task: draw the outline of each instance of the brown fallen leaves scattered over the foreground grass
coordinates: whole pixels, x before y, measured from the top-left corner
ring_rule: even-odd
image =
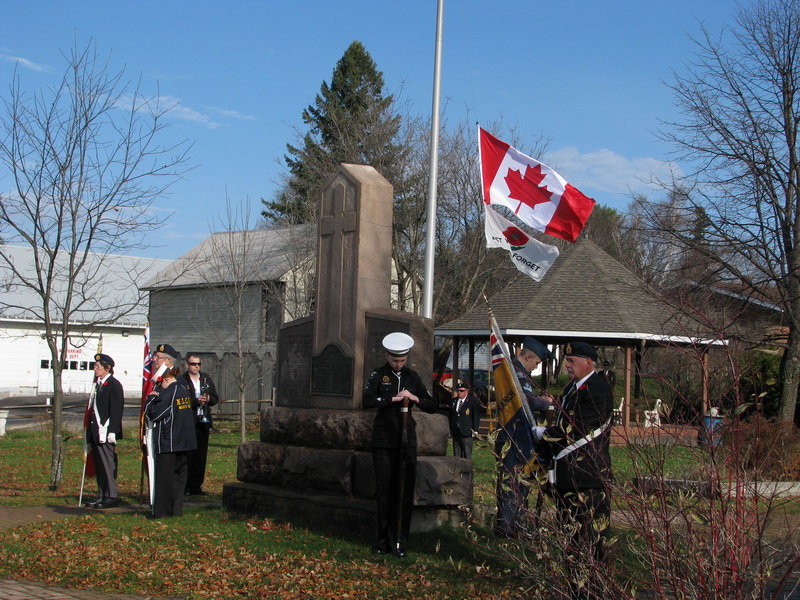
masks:
[[[244,532],[245,539],[257,536],[252,547],[219,531],[181,529],[179,520],[170,525],[137,522],[124,531],[113,524],[114,519],[108,517],[84,516],[0,532],[0,576],[225,600],[460,597],[450,595],[447,578],[422,561],[373,561],[366,548],[363,554],[360,548],[356,550],[358,556],[352,556],[352,548],[323,548],[312,554],[285,546],[279,552],[265,550],[269,536],[277,539],[292,532],[290,524],[270,519],[229,523],[240,535]],[[481,574],[484,581],[486,576],[486,572]],[[487,589],[494,593],[472,588],[470,597],[504,597],[497,593],[502,582],[491,582]]]

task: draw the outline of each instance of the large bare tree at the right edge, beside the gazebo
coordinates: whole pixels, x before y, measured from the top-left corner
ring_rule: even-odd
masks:
[[[797,0],[759,0],[719,38],[704,30],[696,60],[671,86],[683,119],[662,132],[691,168],[678,185],[686,218],[704,214],[704,232],[699,240],[696,231],[662,230],[783,308],[785,421],[800,382],[799,24]]]

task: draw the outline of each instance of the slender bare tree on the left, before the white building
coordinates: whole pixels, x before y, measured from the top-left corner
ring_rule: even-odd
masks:
[[[134,309],[98,294],[103,257],[145,247],[158,226],[149,209],[186,170],[188,149],[159,145],[168,108],[131,90],[123,72],[110,72],[93,42],[65,58],[60,83],[32,96],[15,75],[0,137],[13,186],[1,198],[0,235],[29,247],[34,268],[21,269],[2,247],[0,265],[7,285],[38,298],[15,308],[43,323],[53,369],[51,489],[61,480],[61,357],[71,322],[91,330]]]

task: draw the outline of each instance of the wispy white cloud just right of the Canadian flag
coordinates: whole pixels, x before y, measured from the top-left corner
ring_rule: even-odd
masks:
[[[657,189],[652,181],[680,174],[677,164],[658,158],[628,158],[603,148],[581,153],[575,147],[547,153],[545,163],[578,189],[591,188],[614,194]]]

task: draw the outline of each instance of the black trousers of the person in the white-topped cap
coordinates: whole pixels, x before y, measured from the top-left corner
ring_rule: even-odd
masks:
[[[404,458],[404,460],[402,460]],[[378,508],[378,540],[390,547],[399,541],[408,542],[411,512],[414,507],[414,485],[417,480],[417,451],[407,448],[404,456],[399,449],[374,448],[375,500]],[[402,503],[401,503],[402,482]],[[397,539],[398,521],[400,539]]]

